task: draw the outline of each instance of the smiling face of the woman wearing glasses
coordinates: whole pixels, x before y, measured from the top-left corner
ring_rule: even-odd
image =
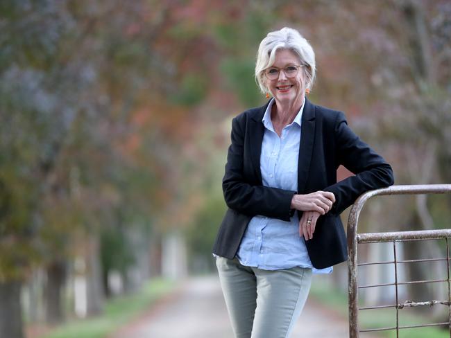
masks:
[[[287,66],[299,66],[299,57],[289,49],[281,49],[275,53],[275,61],[272,65],[278,69],[285,69]],[[271,67],[269,67],[271,69]],[[302,67],[298,67],[298,72],[293,78],[288,78],[284,71],[279,71],[279,77],[275,80],[266,78],[266,87],[276,101],[280,103],[295,103],[296,100],[303,100],[305,92],[305,78]],[[300,102],[302,104],[302,101]]]

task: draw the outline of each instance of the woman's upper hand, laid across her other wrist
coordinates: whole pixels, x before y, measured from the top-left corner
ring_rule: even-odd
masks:
[[[300,211],[318,211],[321,215],[329,212],[335,202],[335,195],[330,191],[316,191],[306,195],[293,195],[291,208]]]

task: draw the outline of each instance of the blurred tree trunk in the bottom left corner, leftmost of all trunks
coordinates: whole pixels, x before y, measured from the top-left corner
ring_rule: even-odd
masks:
[[[0,282],[0,338],[24,338],[19,281]]]

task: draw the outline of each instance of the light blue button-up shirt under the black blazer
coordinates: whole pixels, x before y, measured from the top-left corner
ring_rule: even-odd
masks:
[[[260,154],[263,185],[297,191],[300,125],[305,100],[296,118],[284,127],[280,137],[271,121],[273,104],[274,99],[262,120],[265,127]],[[312,267],[304,238],[299,236],[298,213],[294,213],[289,222],[254,216],[241,240],[237,258],[242,265],[265,270]],[[314,269],[314,272],[330,273],[332,267]]]

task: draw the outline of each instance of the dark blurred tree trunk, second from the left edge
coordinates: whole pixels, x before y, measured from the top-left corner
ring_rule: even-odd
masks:
[[[60,260],[53,261],[47,267],[46,272],[46,321],[49,324],[61,323],[65,317],[62,307],[62,290],[66,281],[65,262]]]

